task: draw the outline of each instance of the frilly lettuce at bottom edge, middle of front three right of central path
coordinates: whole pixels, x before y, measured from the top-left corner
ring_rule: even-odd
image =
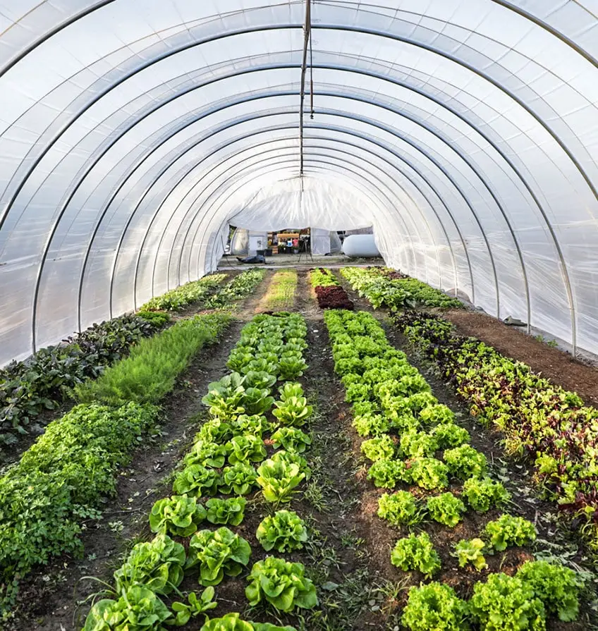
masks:
[[[476,583],[470,612],[483,631],[544,631],[546,611],[534,590],[517,577],[491,574]]]

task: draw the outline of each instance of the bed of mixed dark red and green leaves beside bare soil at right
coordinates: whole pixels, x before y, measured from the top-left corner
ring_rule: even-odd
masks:
[[[439,364],[472,416],[504,434],[507,453],[532,460],[539,491],[562,513],[580,518],[590,544],[598,546],[598,410],[526,364],[456,335],[441,317],[408,313],[396,323]]]

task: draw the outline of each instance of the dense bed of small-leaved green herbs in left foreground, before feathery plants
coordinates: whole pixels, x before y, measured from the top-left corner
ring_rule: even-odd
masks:
[[[135,403],[78,405],[0,477],[0,570],[8,599],[16,575],[51,556],[80,551],[80,522],[99,516],[99,499],[116,493],[117,467],[157,418],[157,408]],[[0,601],[0,616],[3,607]]]

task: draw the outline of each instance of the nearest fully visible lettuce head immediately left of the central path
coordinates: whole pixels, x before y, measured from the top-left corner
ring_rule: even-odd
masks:
[[[245,596],[252,607],[266,600],[279,611],[312,609],[318,604],[316,588],[304,572],[301,563],[268,556],[253,565]]]

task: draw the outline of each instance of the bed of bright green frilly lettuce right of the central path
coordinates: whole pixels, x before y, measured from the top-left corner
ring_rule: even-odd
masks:
[[[474,572],[468,579],[473,587],[470,601],[442,583],[414,586],[403,611],[403,626],[418,631],[544,629],[550,617],[559,615],[554,606],[547,607],[551,596],[540,593],[538,582],[532,584],[532,570],[506,585],[511,577],[503,580],[506,575],[499,571],[505,557],[497,558],[512,546],[529,548],[536,538],[533,523],[500,513],[508,493],[492,478],[486,458],[469,444],[468,432],[458,431],[451,410],[432,396],[425,379],[404,353],[389,344],[371,314],[329,311],[324,320],[336,372],[353,406],[355,428],[367,438],[362,442],[367,477],[374,486],[388,489],[379,495],[378,515],[403,532],[420,531],[396,540],[391,563],[417,577],[447,577],[452,583],[452,572],[445,572],[434,539],[425,532],[427,525],[434,522],[436,527],[456,529],[470,510],[484,515],[491,511],[495,516],[484,520],[485,527],[477,527],[476,537],[456,541],[451,551],[464,572]],[[527,552],[523,559],[530,557]],[[515,570],[521,566],[521,561],[513,563]],[[552,569],[539,571],[566,577],[563,582],[573,594],[568,611],[575,612],[568,620],[573,620],[580,576],[559,563],[550,565]],[[525,617],[518,604],[523,601],[532,604],[533,616]]]

